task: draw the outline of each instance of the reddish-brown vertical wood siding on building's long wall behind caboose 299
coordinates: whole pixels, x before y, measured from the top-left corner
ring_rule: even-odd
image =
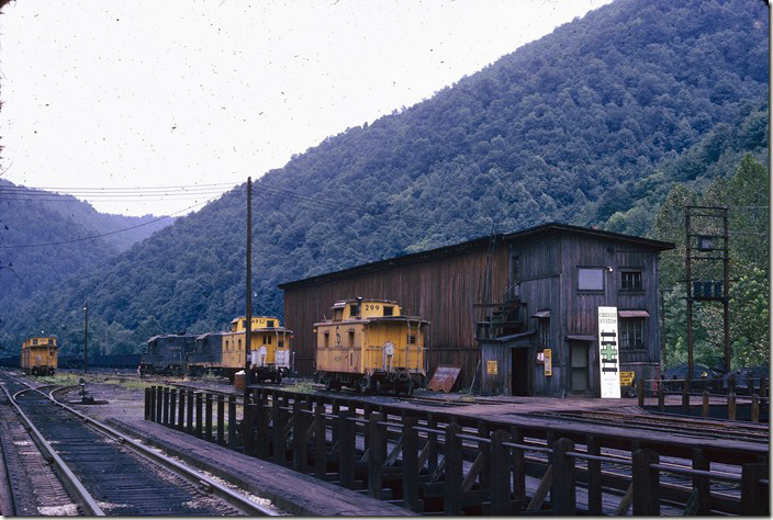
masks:
[[[436,260],[394,265],[350,278],[323,281],[284,292],[284,319],[295,332],[295,368],[301,374],[312,374],[314,336],[312,327],[338,299],[356,296],[394,299],[403,314],[421,316],[430,321],[426,351],[427,375],[438,364],[462,366],[461,386],[472,383],[480,359],[474,340],[475,309],[486,269],[488,250]],[[498,245],[494,251],[492,291],[500,298],[508,283],[508,248]]]

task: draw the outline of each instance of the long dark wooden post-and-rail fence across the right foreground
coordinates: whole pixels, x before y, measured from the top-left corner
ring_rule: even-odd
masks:
[[[632,508],[654,516],[668,502],[687,513],[769,513],[766,445],[597,425],[567,429],[523,417],[501,422],[280,389],[253,388],[246,406],[237,397],[152,387],[145,418],[417,512],[625,515]],[[714,471],[712,463],[738,471]],[[737,493],[712,489],[717,483]],[[579,486],[586,490],[580,508]],[[619,498],[614,510],[610,495]]]

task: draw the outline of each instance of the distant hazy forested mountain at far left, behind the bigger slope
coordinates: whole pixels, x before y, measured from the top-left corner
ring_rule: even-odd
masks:
[[[171,218],[97,212],[70,195],[29,190],[0,179],[0,330],[27,298],[169,225]],[[137,226],[137,227],[134,227]],[[121,233],[114,233],[134,227]],[[103,235],[83,240],[86,237]],[[26,247],[51,244],[45,247]]]

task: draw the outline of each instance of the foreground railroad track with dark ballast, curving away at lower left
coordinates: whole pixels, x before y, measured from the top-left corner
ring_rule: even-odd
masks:
[[[65,513],[86,516],[281,513],[58,403],[55,394],[67,388],[44,392],[8,374],[0,382],[5,402],[31,431],[42,456],[56,467],[71,497],[61,505],[63,486],[41,489],[41,501],[51,499],[51,507],[58,504]],[[33,515],[55,513],[37,509]]]

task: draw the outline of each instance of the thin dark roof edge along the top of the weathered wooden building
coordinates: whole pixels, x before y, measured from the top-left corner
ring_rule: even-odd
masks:
[[[651,248],[656,251],[665,251],[673,249],[675,246],[671,242],[663,242],[660,240],[652,240],[649,238],[635,237],[631,235],[623,235],[620,233],[603,231],[601,229],[592,229],[589,227],[572,226],[569,224],[558,224],[550,223],[544,224],[541,226],[530,227],[528,229],[522,229],[519,231],[507,233],[507,234],[496,234],[495,240],[500,242],[511,242],[520,239],[528,239],[531,237],[549,236],[554,234],[572,234],[572,235],[585,235],[589,237],[595,237],[598,239],[612,239],[626,244],[635,244],[638,246],[643,246]],[[463,255],[466,252],[485,250],[491,241],[491,236],[473,238],[472,240],[467,240],[459,244],[453,244],[451,246],[445,246],[436,249],[428,249],[426,251],[414,252],[411,255],[404,255],[400,257],[388,258],[384,260],[379,260],[376,262],[363,263],[360,265],[355,265],[352,268],[343,269],[340,271],[334,271],[325,274],[317,274],[315,276],[309,276],[302,280],[295,280],[291,282],[284,282],[279,284],[279,289],[296,289],[305,285],[315,285],[317,283],[332,282],[335,280],[341,280],[349,276],[356,276],[358,274],[365,274],[376,271],[382,271],[384,269],[390,269],[397,265],[408,265],[412,263],[426,262],[432,260],[437,260],[440,258],[455,257],[458,255]]]

